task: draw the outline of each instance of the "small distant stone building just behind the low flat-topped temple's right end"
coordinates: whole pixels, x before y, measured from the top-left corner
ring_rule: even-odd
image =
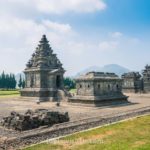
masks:
[[[122,75],[122,90],[125,93],[138,93],[143,91],[143,84],[139,72],[129,72]]]

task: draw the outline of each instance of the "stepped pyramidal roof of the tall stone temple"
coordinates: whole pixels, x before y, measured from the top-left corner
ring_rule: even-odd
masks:
[[[35,52],[32,54],[31,59],[26,65],[26,69],[33,68],[63,69],[62,64],[57,58],[56,54],[53,54],[53,50],[50,47],[46,35],[42,36]]]

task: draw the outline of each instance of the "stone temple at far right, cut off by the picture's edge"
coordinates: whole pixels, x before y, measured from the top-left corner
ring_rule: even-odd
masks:
[[[150,92],[150,66],[146,65],[145,69],[143,70],[143,86],[144,86],[144,92],[149,93]]]

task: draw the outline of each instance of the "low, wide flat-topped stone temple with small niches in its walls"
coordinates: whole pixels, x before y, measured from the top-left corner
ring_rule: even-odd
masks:
[[[126,101],[122,94],[122,79],[114,73],[89,72],[76,79],[76,95],[70,102],[99,103]]]

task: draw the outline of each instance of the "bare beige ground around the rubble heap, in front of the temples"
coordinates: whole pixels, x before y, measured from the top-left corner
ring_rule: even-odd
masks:
[[[27,109],[46,108],[54,111],[69,112],[70,121],[79,121],[92,117],[103,117],[106,115],[115,115],[122,112],[132,111],[142,107],[150,106],[150,94],[130,94],[129,102],[126,104],[111,105],[107,107],[85,107],[81,105],[72,105],[66,102],[61,103],[60,107],[56,107],[54,102],[36,104],[34,101],[27,101],[22,98],[0,98],[0,120],[2,117],[9,115],[11,111],[24,112]],[[61,125],[55,125],[51,129],[60,127]],[[62,125],[63,127],[63,125]],[[38,133],[41,130],[47,130],[47,127],[35,129],[32,131],[16,132],[0,127],[0,144],[6,139],[12,139],[14,137],[22,137],[29,133]]]

